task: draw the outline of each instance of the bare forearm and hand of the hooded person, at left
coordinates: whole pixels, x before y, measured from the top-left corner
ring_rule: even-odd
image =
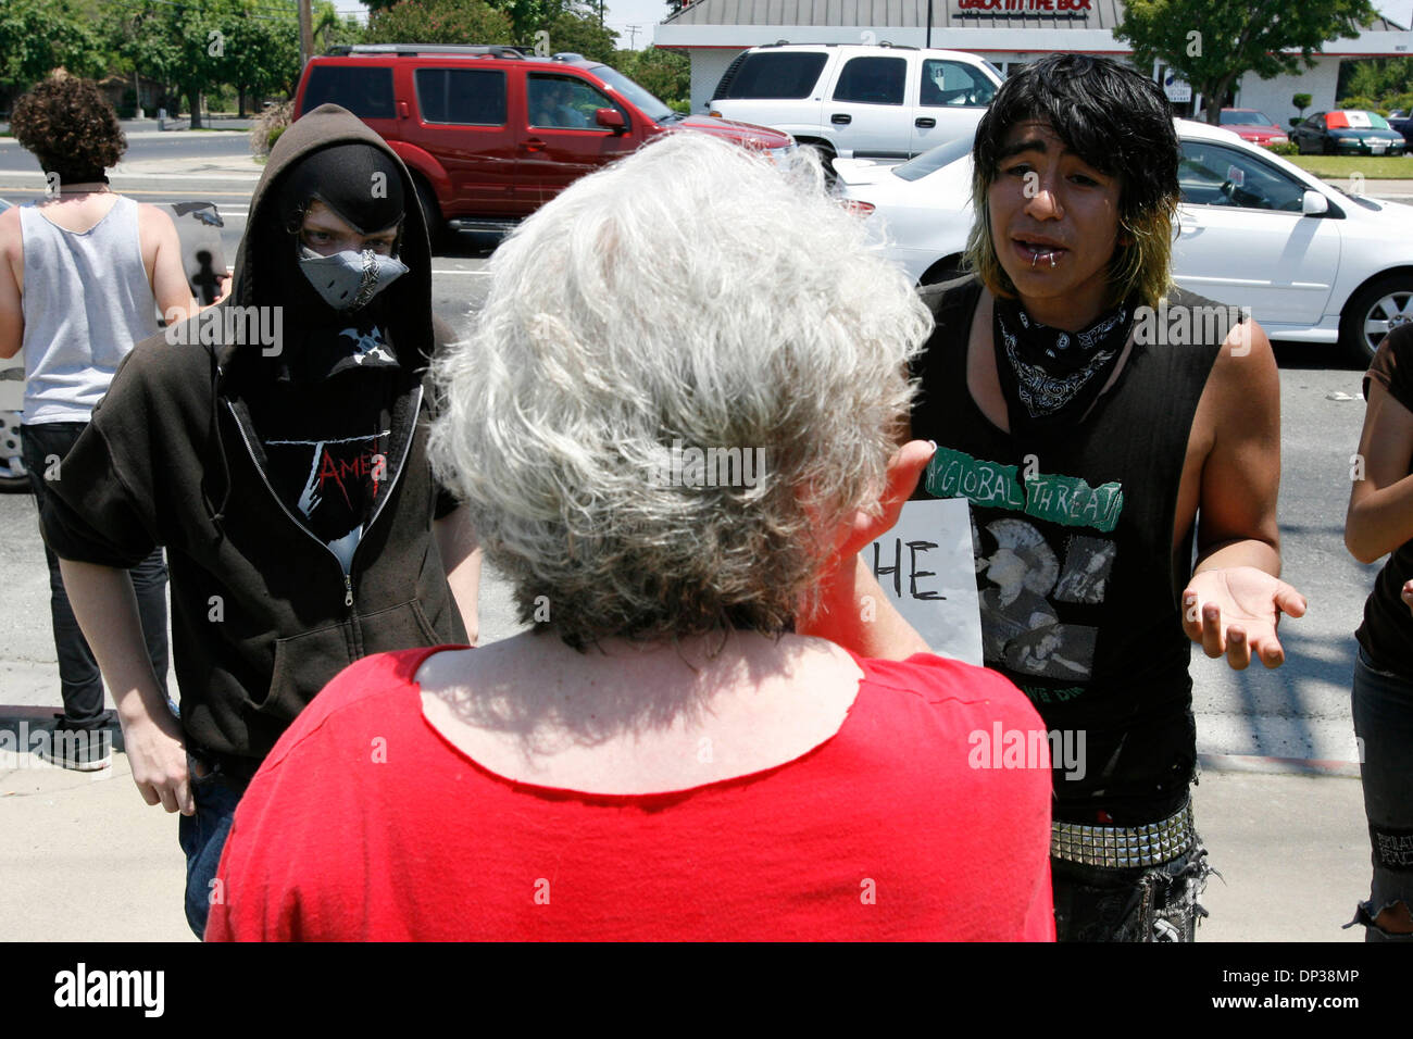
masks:
[[[195,813],[181,724],[167,707],[143,640],[126,570],[59,558],[64,588],[117,704],[133,782],[148,804]]]

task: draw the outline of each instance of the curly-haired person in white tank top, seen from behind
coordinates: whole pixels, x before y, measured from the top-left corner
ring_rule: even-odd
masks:
[[[42,513],[47,481],[119,362],[160,329],[155,308],[184,321],[195,310],[171,218],[107,187],[127,143],[93,83],[57,72],[14,106],[11,133],[40,161],[48,195],[0,213],[0,359],[24,349],[20,427],[25,468]],[[100,130],[95,131],[95,126]],[[45,548],[64,712],[41,756],[96,770],[112,761],[103,681],[79,630],[58,560]],[[158,548],[130,571],[148,656],[167,674],[167,568]]]

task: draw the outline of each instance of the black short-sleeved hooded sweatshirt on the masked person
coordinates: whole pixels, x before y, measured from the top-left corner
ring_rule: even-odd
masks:
[[[382,150],[401,175],[398,257],[410,270],[369,304],[397,369],[339,383],[373,387],[389,430],[387,481],[345,571],[274,489],[252,414],[297,397],[290,368],[311,327],[332,318],[298,274],[288,215],[277,212],[281,178],[305,155],[349,143]],[[324,105],[292,123],[250,201],[230,298],[129,353],[51,481],[42,527],[59,557],[126,568],[165,546],[182,729],[235,777],[253,775],[353,660],[466,639],[431,534],[455,502],[425,455],[431,253],[415,198],[403,163],[345,109]],[[237,305],[284,308],[277,356],[266,356],[250,324],[226,319]]]

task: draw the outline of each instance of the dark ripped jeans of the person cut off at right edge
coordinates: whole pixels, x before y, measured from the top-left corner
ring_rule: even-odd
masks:
[[[1378,670],[1361,646],[1352,701],[1373,884],[1345,926],[1362,923],[1366,941],[1413,941],[1413,934],[1390,934],[1373,923],[1396,902],[1413,908],[1413,684]]]

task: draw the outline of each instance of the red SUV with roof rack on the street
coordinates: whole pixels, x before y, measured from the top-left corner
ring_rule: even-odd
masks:
[[[578,54],[513,47],[370,44],[309,59],[294,112],[342,105],[376,130],[417,181],[437,233],[507,230],[571,181],[660,133],[697,130],[763,151],[784,133],[680,116],[620,72]]]

